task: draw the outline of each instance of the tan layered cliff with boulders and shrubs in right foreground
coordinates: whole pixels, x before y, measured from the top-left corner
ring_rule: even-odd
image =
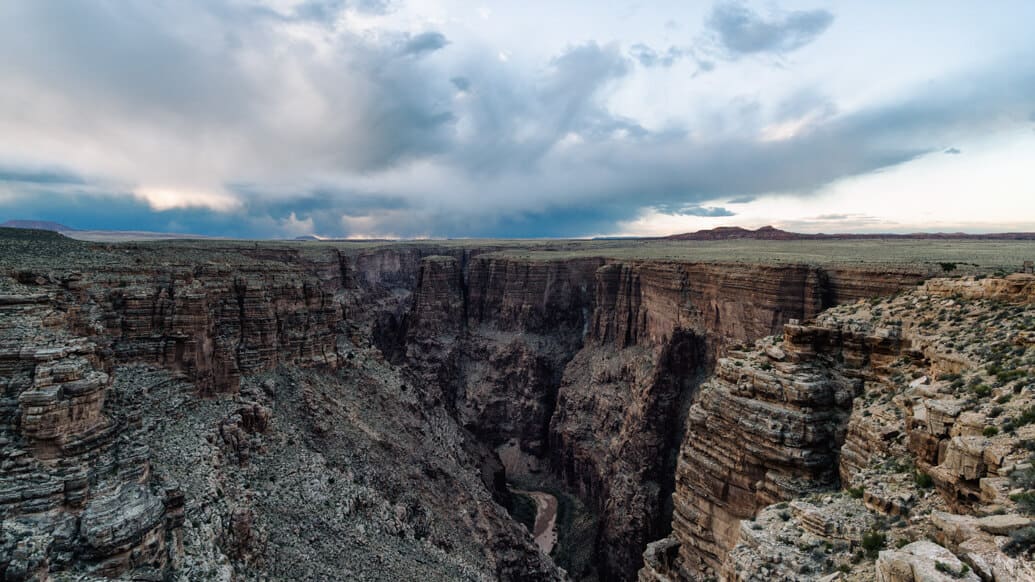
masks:
[[[1035,576],[1018,515],[1033,285],[934,280],[731,352],[689,413],[673,532],[640,579]]]

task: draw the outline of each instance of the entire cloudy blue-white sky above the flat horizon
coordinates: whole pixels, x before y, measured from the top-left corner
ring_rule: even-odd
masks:
[[[1029,0],[0,2],[0,221],[1035,231]]]

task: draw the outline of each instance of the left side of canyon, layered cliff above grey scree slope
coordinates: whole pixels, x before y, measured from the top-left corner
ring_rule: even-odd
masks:
[[[0,281],[5,580],[562,577],[374,345],[434,248],[56,244]]]

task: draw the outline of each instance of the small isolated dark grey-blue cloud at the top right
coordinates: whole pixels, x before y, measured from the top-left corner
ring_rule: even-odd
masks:
[[[827,10],[795,10],[768,18],[740,2],[719,2],[707,26],[729,58],[759,53],[790,53],[808,45],[834,21]]]

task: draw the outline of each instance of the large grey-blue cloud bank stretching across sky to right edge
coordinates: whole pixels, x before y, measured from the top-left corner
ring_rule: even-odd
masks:
[[[722,2],[685,45],[578,39],[529,65],[401,10],[0,4],[0,213],[256,237],[603,234],[950,151],[1028,122],[1035,94],[1024,65],[847,111],[811,89],[649,124],[613,101],[640,67],[807,51],[834,14]]]

